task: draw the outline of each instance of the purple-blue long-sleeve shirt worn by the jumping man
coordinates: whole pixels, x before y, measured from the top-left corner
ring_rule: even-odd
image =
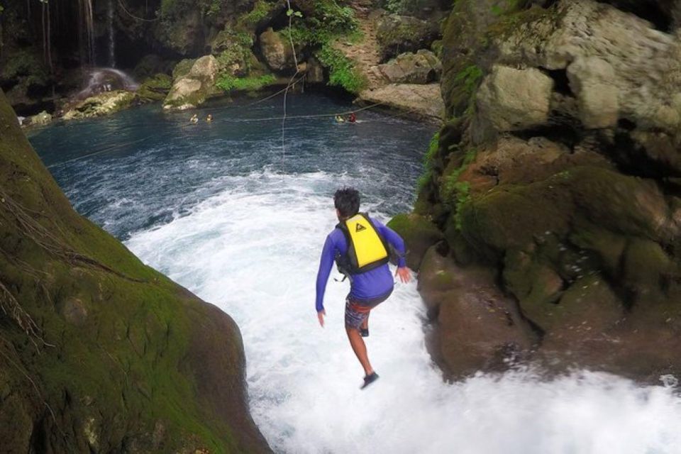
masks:
[[[384,226],[379,221],[371,219],[372,224],[377,231],[390,243],[399,254],[399,261],[397,266],[404,267],[404,240],[391,228]],[[331,274],[336,253],[345,255],[348,253],[348,240],[339,228],[335,228],[333,232],[329,233],[324,243],[324,248],[321,252],[321,260],[319,262],[319,272],[317,272],[317,311],[324,309],[324,292],[326,292],[326,282],[328,282],[328,275]],[[362,272],[359,275],[353,275],[352,283],[350,284],[350,297],[362,301],[382,297],[392,290],[393,280],[392,274],[385,264],[373,270]]]

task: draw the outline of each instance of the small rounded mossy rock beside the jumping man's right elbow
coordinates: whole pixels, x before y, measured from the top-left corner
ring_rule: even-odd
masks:
[[[419,270],[426,250],[443,239],[436,225],[418,214],[398,214],[387,226],[404,239],[407,249],[406,265],[415,271]]]

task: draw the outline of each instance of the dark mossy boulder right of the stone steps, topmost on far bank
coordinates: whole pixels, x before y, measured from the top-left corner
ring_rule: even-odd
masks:
[[[428,49],[439,34],[437,21],[423,21],[413,16],[389,14],[376,21],[376,40],[382,61],[403,52]]]

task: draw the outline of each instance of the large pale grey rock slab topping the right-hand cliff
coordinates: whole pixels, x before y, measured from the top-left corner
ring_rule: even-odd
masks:
[[[650,165],[681,172],[661,143],[679,143],[681,41],[631,13],[592,0],[561,1],[515,30],[502,28],[495,52],[506,65],[565,74],[585,128],[619,122]],[[661,140],[648,140],[650,134]],[[639,151],[640,150],[640,151]],[[623,154],[624,154],[623,153]],[[670,165],[671,164],[671,165]]]

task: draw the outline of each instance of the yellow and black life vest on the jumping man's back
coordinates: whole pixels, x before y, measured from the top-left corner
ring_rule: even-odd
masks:
[[[341,272],[358,275],[373,270],[389,261],[389,247],[364,213],[341,221],[336,226],[348,240],[348,253],[336,258]]]

